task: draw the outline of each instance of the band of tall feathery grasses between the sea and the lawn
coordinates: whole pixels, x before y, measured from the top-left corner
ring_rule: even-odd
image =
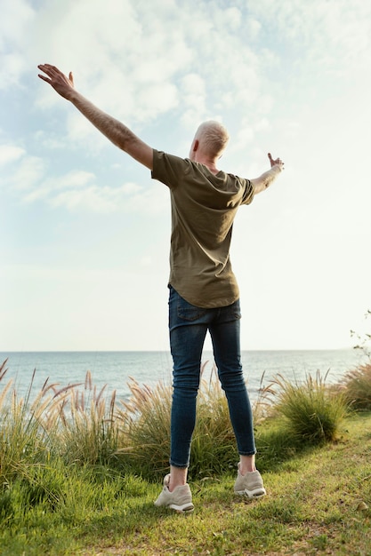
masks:
[[[259,465],[269,469],[300,445],[334,441],[352,407],[363,406],[360,394],[371,391],[371,366],[363,366],[335,391],[327,375],[307,377],[303,384],[278,375],[261,389],[254,404]],[[203,369],[205,370],[205,369]],[[35,375],[34,375],[35,376]],[[355,391],[354,385],[359,390]],[[6,361],[0,366],[0,481],[23,477],[34,484],[34,473],[55,466],[107,466],[157,481],[168,469],[172,388],[129,382],[130,398],[97,391],[90,372],[85,383],[60,386],[46,381],[25,398],[6,383]],[[33,394],[33,393],[32,393]],[[365,397],[365,396],[364,396]],[[191,445],[190,473],[203,477],[235,469],[236,441],[228,403],[215,369],[201,377],[197,425]],[[54,473],[55,475],[55,473]]]

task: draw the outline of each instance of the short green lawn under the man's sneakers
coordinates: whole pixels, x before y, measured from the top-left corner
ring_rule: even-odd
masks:
[[[265,473],[259,501],[234,496],[230,473],[190,477],[190,515],[155,508],[159,485],[133,474],[40,466],[3,490],[0,553],[370,554],[371,414],[345,425],[340,441]]]

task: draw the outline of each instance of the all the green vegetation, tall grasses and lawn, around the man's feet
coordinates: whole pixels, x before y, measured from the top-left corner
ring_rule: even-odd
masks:
[[[212,373],[198,400],[187,517],[153,506],[168,466],[170,388],[132,380],[130,400],[117,401],[87,373],[83,385],[47,381],[35,396],[31,383],[23,400],[5,366],[0,554],[371,553],[371,365],[337,388],[319,373],[262,388],[254,416],[268,496],[254,502],[232,494],[237,452]]]

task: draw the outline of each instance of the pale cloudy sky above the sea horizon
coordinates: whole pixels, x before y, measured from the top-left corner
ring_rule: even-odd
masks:
[[[214,119],[222,170],[282,158],[234,224],[241,346],[354,346],[371,331],[370,37],[365,0],[3,0],[0,351],[168,350],[168,190],[40,63],[158,150],[188,156]]]

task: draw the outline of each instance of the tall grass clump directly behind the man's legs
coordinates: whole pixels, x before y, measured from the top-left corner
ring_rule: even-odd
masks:
[[[202,370],[205,369],[204,368]],[[121,454],[139,465],[141,473],[164,473],[170,454],[172,387],[158,384],[153,390],[131,379],[132,396],[122,402]],[[190,448],[190,473],[220,473],[235,466],[236,441],[230,425],[228,403],[215,370],[210,380],[201,380],[196,427]]]

